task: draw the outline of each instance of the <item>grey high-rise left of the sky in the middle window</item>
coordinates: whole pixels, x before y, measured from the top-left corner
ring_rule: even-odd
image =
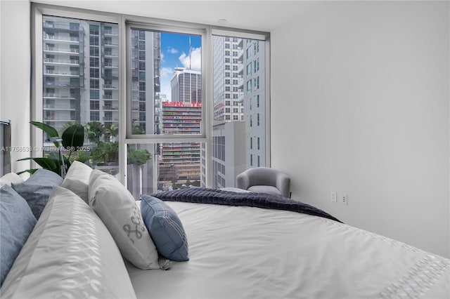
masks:
[[[131,29],[131,126],[134,134],[159,134],[161,131],[160,39],[160,32]],[[158,147],[129,144],[127,150],[147,150],[152,156],[143,166],[128,166],[129,190],[135,197],[155,192],[158,186],[153,178],[158,175]]]

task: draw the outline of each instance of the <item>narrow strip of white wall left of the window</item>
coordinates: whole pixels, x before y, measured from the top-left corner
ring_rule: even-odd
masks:
[[[30,168],[30,2],[0,1],[0,117],[11,119],[11,171]],[[18,113],[19,112],[19,113]],[[25,175],[26,176],[26,175]]]

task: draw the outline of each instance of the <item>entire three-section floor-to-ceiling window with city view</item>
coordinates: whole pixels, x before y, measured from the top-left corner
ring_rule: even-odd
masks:
[[[60,133],[82,124],[84,149],[72,159],[115,175],[136,198],[233,187],[241,171],[269,165],[264,34],[40,4],[34,12],[33,120]],[[51,146],[47,137],[35,145]]]

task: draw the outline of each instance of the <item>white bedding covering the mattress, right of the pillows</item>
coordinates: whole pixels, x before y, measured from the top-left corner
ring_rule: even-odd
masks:
[[[138,298],[449,298],[450,261],[333,220],[166,201],[187,262],[127,264]]]

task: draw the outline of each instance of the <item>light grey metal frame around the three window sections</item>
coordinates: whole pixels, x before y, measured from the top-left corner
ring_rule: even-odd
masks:
[[[51,15],[61,18],[74,18],[82,20],[92,20],[94,22],[109,22],[117,24],[119,34],[118,46],[118,98],[119,98],[119,173],[118,178],[122,184],[127,184],[127,145],[129,143],[153,144],[162,142],[203,142],[206,147],[205,167],[207,186],[212,185],[212,119],[214,117],[214,98],[212,86],[212,36],[224,35],[233,38],[259,39],[265,41],[265,124],[266,124],[266,165],[271,165],[270,148],[270,36],[267,32],[257,32],[248,29],[234,29],[218,27],[212,25],[202,25],[191,22],[179,22],[158,18],[147,18],[136,15],[126,15],[121,13],[106,13],[103,11],[93,11],[84,8],[71,8],[66,6],[54,6],[51,4],[39,4],[32,2],[31,13],[31,39],[32,39],[32,80],[31,80],[31,119],[41,120],[44,116],[43,89],[43,18],[44,15]],[[159,30],[162,32],[176,32],[185,34],[198,34],[202,36],[202,122],[200,134],[189,135],[133,135],[131,134],[131,93],[130,80],[131,69],[129,69],[129,46],[128,28],[131,26],[142,29]],[[130,89],[130,90],[129,90]],[[208,100],[209,99],[209,100]],[[90,99],[89,99],[90,100]],[[31,142],[34,147],[41,146],[43,132],[37,128],[31,128]],[[39,152],[32,152],[32,157],[39,157]],[[32,166],[36,166],[32,162]]]

